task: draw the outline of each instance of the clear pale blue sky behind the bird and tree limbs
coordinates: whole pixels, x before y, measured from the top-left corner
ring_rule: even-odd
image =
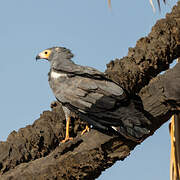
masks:
[[[161,0],[162,1],[162,0]],[[155,22],[170,12],[176,0],[154,14],[148,0],[6,0],[0,4],[0,140],[32,124],[55,100],[48,85],[49,64],[35,56],[52,46],[65,46],[77,64],[104,71],[106,64],[127,55]],[[168,123],[123,162],[98,180],[169,179]]]

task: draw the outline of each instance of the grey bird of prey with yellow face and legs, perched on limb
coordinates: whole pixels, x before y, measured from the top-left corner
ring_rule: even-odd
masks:
[[[49,85],[62,105],[66,118],[66,135],[61,143],[72,140],[69,135],[71,112],[87,123],[84,134],[93,127],[104,133],[139,142],[150,133],[150,120],[144,116],[138,98],[131,98],[119,84],[99,70],[75,64],[74,55],[65,47],[43,50],[36,60],[50,62]]]

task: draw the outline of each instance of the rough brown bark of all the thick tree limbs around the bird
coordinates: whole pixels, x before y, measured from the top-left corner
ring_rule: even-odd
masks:
[[[152,122],[151,134],[180,109],[180,63],[167,70],[180,56],[179,17],[180,3],[129,49],[128,56],[107,65],[108,77],[132,95],[139,93]],[[167,72],[157,76],[163,70]],[[70,129],[74,140],[59,145],[65,122],[61,106],[54,104],[33,125],[12,132],[0,143],[0,179],[95,179],[137,145],[96,130],[80,136],[82,128],[75,119]]]

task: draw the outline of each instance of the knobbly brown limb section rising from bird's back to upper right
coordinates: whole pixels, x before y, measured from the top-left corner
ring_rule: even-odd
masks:
[[[149,83],[180,56],[180,3],[171,14],[157,21],[147,37],[129,48],[128,56],[107,65],[108,77],[121,84],[130,93]]]

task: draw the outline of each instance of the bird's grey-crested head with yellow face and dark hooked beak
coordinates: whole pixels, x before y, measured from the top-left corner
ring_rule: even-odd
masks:
[[[52,47],[40,52],[36,56],[36,60],[47,59],[48,61],[52,62],[55,59],[58,59],[58,61],[60,61],[65,59],[71,59],[72,57],[73,54],[69,49],[66,49],[64,47]]]

